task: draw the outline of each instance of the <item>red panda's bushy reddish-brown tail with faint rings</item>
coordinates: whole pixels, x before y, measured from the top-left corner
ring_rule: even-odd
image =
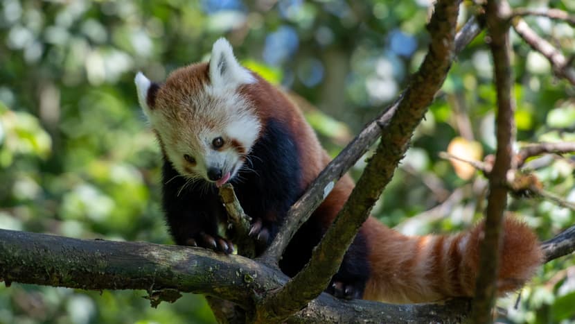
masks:
[[[371,244],[371,277],[364,298],[413,303],[472,296],[483,226],[479,223],[456,235],[407,237],[370,217],[362,228]],[[524,223],[506,217],[499,260],[499,293],[522,287],[541,262],[536,235]]]

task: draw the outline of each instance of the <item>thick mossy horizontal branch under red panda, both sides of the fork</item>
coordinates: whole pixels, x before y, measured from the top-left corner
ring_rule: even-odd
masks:
[[[89,290],[145,289],[204,293],[229,300],[250,314],[263,291],[288,278],[251,259],[204,248],[85,240],[0,230],[0,280]],[[170,291],[171,293],[172,291]],[[466,300],[436,305],[342,301],[323,293],[290,323],[459,323]]]

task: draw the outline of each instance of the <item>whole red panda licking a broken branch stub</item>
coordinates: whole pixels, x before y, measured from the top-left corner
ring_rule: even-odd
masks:
[[[330,161],[300,110],[242,67],[223,38],[213,44],[209,62],[177,69],[163,84],[141,73],[135,83],[161,146],[162,205],[176,244],[233,251],[218,235],[226,212],[217,187],[230,182],[252,218],[256,253],[263,253],[290,206]],[[280,262],[286,275],[308,262],[352,189],[351,178],[343,176],[297,232]],[[326,290],[339,298],[394,303],[472,296],[482,226],[407,237],[369,218]],[[521,287],[541,261],[536,235],[507,218],[499,292]]]

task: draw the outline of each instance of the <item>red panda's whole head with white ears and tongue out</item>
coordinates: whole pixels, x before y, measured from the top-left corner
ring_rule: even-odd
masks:
[[[238,91],[256,78],[238,63],[227,40],[213,44],[209,63],[177,69],[161,85],[140,72],[135,83],[143,112],[178,173],[218,187],[236,176],[262,126]]]

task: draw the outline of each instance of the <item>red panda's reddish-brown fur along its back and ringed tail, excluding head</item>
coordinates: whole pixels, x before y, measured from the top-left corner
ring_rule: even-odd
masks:
[[[300,110],[285,94],[260,79],[242,88],[265,120],[270,114],[290,125],[299,146],[306,153],[303,181],[307,187],[330,162]],[[272,95],[270,95],[272,94]],[[278,107],[281,107],[278,109]],[[321,160],[318,158],[321,152]],[[353,180],[342,177],[314,213],[329,226],[353,189]],[[472,296],[475,289],[479,259],[479,237],[483,223],[457,235],[407,237],[369,217],[361,228],[369,243],[369,264],[372,273],[364,299],[387,302],[426,302],[448,296]],[[466,246],[459,249],[466,239]],[[520,221],[506,218],[498,291],[505,293],[522,287],[542,260],[536,235]]]

